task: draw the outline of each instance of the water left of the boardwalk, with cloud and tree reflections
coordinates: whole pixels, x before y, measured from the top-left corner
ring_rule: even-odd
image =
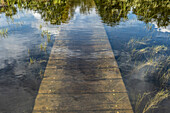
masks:
[[[8,29],[7,38],[5,32],[0,35],[0,112],[32,112],[54,38],[77,7],[87,15],[94,4],[88,0],[8,0],[0,5],[0,30]]]

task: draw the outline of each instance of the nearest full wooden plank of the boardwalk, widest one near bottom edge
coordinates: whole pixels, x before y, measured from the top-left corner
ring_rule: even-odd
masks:
[[[36,110],[130,110],[126,93],[96,93],[96,94],[39,94]],[[63,102],[63,100],[65,100]],[[87,100],[89,103],[87,103]],[[62,102],[62,103],[61,103]],[[55,103],[55,104],[54,104]]]

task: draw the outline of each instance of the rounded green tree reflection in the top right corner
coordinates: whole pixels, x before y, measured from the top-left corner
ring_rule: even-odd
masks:
[[[138,19],[148,22],[156,22],[158,27],[168,26],[170,2],[169,0],[135,0],[133,12]]]

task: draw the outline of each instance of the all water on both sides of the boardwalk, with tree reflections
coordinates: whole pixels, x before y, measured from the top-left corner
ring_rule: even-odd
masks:
[[[96,15],[104,25],[134,112],[170,112],[169,0],[3,1],[0,113],[32,112],[55,38],[79,18],[86,24],[88,17],[95,22]],[[74,34],[76,28],[68,32],[83,36],[80,25],[74,27],[80,27],[82,34]],[[92,35],[90,29],[86,32]]]

